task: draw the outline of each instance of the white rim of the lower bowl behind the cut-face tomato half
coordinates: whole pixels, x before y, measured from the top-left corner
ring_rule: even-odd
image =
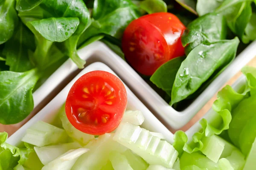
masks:
[[[17,146],[20,144],[21,139],[25,135],[26,129],[28,129],[30,126],[40,120],[51,123],[56,118],[59,109],[66,101],[67,94],[76,80],[79,79],[79,77],[81,77],[83,74],[95,70],[108,71],[115,74],[107,65],[101,62],[96,62],[87,66],[57,96],[55,96],[51,102],[49,102],[40,112],[38,112],[38,114],[36,114],[32,119],[29,120],[29,122],[10,136],[6,142]],[[127,109],[139,110],[143,113],[145,121],[143,122],[142,127],[153,132],[162,133],[165,136],[166,141],[173,143],[173,134],[148,110],[148,108],[145,107],[145,105],[143,105],[142,102],[140,102],[140,100],[126,85],[125,88],[128,96]]]

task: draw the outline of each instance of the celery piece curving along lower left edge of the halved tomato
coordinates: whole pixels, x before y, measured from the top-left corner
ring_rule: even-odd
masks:
[[[62,127],[66,130],[67,135],[70,136],[73,140],[79,142],[81,145],[86,145],[90,140],[95,139],[93,135],[83,133],[80,130],[77,130],[67,119],[65,112],[65,104],[61,107],[59,111],[59,117],[62,122]]]

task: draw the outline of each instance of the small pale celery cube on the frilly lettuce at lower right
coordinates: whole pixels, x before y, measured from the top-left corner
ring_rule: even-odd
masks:
[[[201,152],[204,153],[204,155],[210,160],[218,162],[221,157],[221,153],[224,150],[225,143],[216,135],[210,137],[204,136],[201,141],[204,144]]]

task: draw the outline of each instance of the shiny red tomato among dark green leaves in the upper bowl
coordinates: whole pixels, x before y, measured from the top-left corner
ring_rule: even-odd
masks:
[[[180,37],[185,29],[174,14],[148,14],[125,29],[122,50],[135,70],[150,76],[160,65],[184,55]]]

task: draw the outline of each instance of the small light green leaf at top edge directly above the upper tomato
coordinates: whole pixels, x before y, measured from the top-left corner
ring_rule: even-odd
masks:
[[[167,5],[163,0],[143,0],[140,3],[140,8],[148,14],[167,12]]]

